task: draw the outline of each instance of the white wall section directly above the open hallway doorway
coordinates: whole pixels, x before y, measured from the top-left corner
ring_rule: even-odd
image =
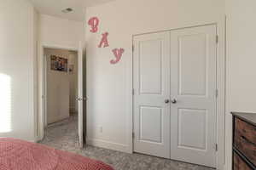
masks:
[[[40,37],[43,46],[77,49],[84,40],[83,23],[41,14]]]

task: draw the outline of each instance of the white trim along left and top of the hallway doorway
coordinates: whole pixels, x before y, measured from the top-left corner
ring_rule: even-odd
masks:
[[[45,45],[38,44],[38,119],[37,123],[35,123],[37,132],[36,132],[36,141],[41,141],[44,139],[44,126],[46,122],[47,116],[47,99],[46,99],[46,87],[47,87],[47,79],[45,78],[45,56],[44,56],[44,48],[55,48],[55,49],[65,49],[65,50],[73,50],[79,52],[79,48],[74,47],[63,47],[63,46],[55,46],[55,45]]]

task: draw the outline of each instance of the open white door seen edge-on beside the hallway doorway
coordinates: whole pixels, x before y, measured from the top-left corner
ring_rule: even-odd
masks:
[[[79,59],[78,59],[78,119],[79,119],[79,146],[82,148],[84,146],[84,128],[83,128],[83,116],[84,116],[84,108],[83,105],[85,103],[85,97],[83,92],[83,47],[82,43],[79,43]]]

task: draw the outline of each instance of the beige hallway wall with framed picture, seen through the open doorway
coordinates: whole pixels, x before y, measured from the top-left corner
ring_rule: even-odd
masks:
[[[78,116],[78,52],[44,48],[44,127]]]

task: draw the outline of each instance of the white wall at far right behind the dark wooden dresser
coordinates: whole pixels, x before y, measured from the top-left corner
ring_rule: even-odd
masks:
[[[226,169],[231,169],[230,111],[256,113],[256,23],[254,0],[226,0],[227,109]]]

